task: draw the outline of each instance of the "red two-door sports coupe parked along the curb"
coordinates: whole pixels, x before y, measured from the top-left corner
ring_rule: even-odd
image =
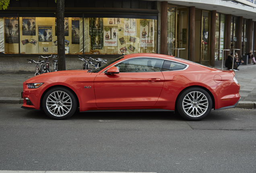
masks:
[[[240,85],[234,75],[173,56],[129,54],[95,70],[50,72],[26,80],[22,108],[43,109],[52,119],[67,119],[77,108],[169,110],[198,121],[211,109],[237,105]]]

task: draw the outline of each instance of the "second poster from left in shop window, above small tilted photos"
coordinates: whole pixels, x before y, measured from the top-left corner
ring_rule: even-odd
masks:
[[[22,35],[35,36],[35,17],[22,18]]]

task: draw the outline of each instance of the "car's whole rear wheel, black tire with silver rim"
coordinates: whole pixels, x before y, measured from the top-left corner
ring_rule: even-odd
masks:
[[[213,101],[209,93],[198,87],[184,90],[177,101],[179,114],[190,121],[204,119],[209,115],[212,107]]]

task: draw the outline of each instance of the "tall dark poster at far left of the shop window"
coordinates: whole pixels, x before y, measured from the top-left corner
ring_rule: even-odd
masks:
[[[19,24],[17,17],[4,18],[4,33],[6,43],[19,43]]]

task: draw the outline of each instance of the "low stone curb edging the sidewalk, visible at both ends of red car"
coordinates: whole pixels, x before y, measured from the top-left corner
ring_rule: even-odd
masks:
[[[17,97],[0,97],[0,103],[23,104],[23,99]],[[239,101],[236,108],[256,109],[256,102]]]

